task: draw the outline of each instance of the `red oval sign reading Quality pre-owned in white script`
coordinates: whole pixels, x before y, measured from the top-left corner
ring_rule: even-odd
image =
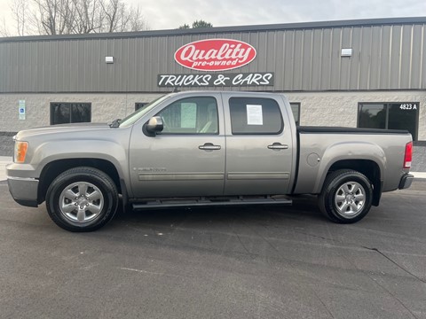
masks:
[[[225,71],[245,66],[256,58],[256,49],[231,39],[208,39],[185,44],[175,52],[181,66],[198,71]]]

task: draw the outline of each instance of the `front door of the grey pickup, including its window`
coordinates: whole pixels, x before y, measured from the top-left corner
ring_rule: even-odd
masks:
[[[130,136],[133,196],[222,195],[225,131],[220,94],[172,97],[149,117],[154,115],[162,117],[161,133],[147,136],[140,125]]]

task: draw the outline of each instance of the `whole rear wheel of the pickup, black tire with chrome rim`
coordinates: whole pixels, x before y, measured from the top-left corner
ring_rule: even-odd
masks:
[[[373,188],[366,175],[351,169],[327,176],[319,194],[319,209],[332,222],[353,223],[370,211]]]

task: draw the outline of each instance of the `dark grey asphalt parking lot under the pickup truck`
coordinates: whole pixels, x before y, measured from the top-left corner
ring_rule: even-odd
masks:
[[[294,206],[119,214],[59,229],[0,182],[2,318],[426,318],[426,180],[356,224]]]

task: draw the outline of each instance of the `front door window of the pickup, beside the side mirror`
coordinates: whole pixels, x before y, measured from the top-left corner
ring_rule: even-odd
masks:
[[[157,114],[164,134],[218,134],[217,101],[214,97],[187,97]]]

